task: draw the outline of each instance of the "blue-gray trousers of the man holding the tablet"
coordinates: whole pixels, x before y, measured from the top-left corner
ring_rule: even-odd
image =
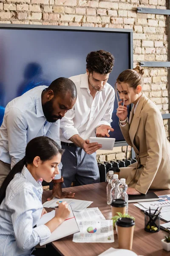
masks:
[[[89,155],[82,148],[62,145],[65,150],[62,155],[63,188],[75,185],[86,185],[100,182],[99,168],[96,160],[96,152]]]

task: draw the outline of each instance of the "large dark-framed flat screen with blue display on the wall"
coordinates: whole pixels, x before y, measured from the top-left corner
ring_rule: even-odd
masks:
[[[114,87],[119,73],[132,64],[131,30],[83,29],[59,26],[0,27],[0,106],[39,85],[49,85],[58,77],[86,72],[89,52],[104,49],[115,57],[108,83]],[[124,140],[116,116],[113,122],[116,141]],[[97,115],[97,113],[96,113]]]

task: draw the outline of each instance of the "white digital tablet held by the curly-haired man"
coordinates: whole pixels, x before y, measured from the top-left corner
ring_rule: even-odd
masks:
[[[113,150],[115,138],[90,137],[89,141],[90,143],[98,142],[99,144],[102,144],[102,148],[99,149]]]

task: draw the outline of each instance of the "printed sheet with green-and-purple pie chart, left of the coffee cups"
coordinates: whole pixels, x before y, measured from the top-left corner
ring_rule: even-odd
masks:
[[[79,233],[74,234],[75,243],[113,243],[113,221],[78,221]]]

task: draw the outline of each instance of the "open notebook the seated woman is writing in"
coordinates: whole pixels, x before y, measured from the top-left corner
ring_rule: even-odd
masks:
[[[74,233],[79,232],[79,227],[78,227],[77,221],[74,217],[74,213],[73,213],[71,207],[69,207],[69,209],[70,209],[70,214],[69,214],[68,218],[61,225],[59,225],[59,227],[57,227],[56,230],[54,230],[51,233],[51,236],[48,239],[46,239],[45,241],[40,243],[41,246],[44,244],[51,243],[52,241],[58,240],[65,236],[70,236]],[[51,211],[51,212],[44,214],[42,216],[42,218],[40,218],[40,220],[38,221],[37,227],[50,221],[52,218],[54,218],[54,215],[55,215],[55,211]]]

